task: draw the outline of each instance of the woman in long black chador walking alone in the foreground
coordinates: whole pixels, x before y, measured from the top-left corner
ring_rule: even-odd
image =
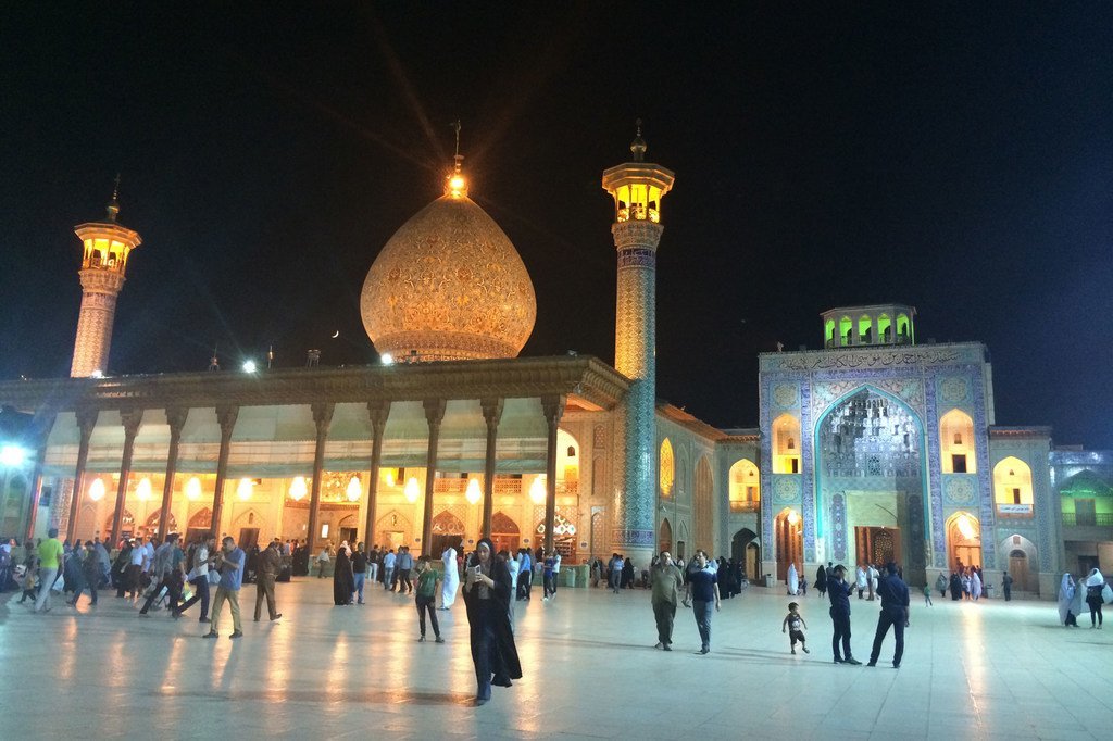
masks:
[[[491,684],[510,686],[512,679],[522,678],[510,628],[510,569],[503,559],[495,557],[494,545],[484,537],[469,557],[464,576],[464,605],[477,684],[475,704],[482,705],[491,700]]]

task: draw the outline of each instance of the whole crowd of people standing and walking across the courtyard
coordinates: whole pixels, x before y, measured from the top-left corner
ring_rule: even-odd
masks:
[[[227,603],[233,622],[229,638],[238,639],[244,635],[239,607],[243,585],[256,584],[255,621],[262,619],[264,605],[269,620],[279,620],[275,582],[288,579],[290,572],[308,575],[307,554],[304,542],[279,539],[245,553],[230,536],[221,539],[218,546],[211,533],[201,534],[191,543],[181,543],[176,533],[167,535],[164,542],[157,537],[125,539],[109,550],[100,539],[62,543],[57,531],[51,530],[47,539],[27,541],[22,549],[14,541],[0,544],[0,591],[21,590],[19,602],[30,601],[36,612],[51,609],[53,593],[60,593],[71,606],[77,606],[88,593],[90,604],[96,605],[99,591],[106,589],[115,589],[118,599],[131,600],[140,616],[165,605],[167,614],[180,619],[199,604],[198,621],[209,626],[205,638],[219,636],[221,612]],[[325,544],[315,564],[318,577],[332,571],[337,606],[365,604],[366,587],[376,584],[397,595],[412,596],[418,618],[417,640],[423,643],[427,629],[432,629],[434,643],[445,642],[436,612],[452,609],[457,593],[462,593],[475,666],[475,702],[484,704],[491,699],[492,686],[510,686],[512,680],[521,676],[514,644],[514,602],[529,601],[532,584],[538,580],[543,584],[542,601],[555,597],[561,554],[543,549],[519,549],[513,554],[506,550],[496,552],[494,544],[483,539],[466,556],[450,544],[440,560],[440,567],[435,567],[432,556],[415,559],[405,545],[396,552],[378,545],[367,551],[364,543],[356,543],[353,549],[344,541],[335,550]],[[672,650],[678,605],[691,609],[700,639],[699,654],[711,650],[712,615],[721,610],[722,600],[739,594],[748,585],[740,563],[722,557],[712,560],[705,551],[697,551],[687,563],[664,551],[653,556],[649,567],[640,573],[631,559],[614,553],[605,564],[600,559],[591,561],[590,571],[592,586],[603,585],[615,594],[634,587],[650,590],[657,623],[656,648],[660,650]],[[795,564],[788,569],[785,584],[791,596],[807,594],[807,579]],[[1007,572],[1002,574],[1002,585],[1005,599],[1011,599],[1012,577]],[[850,576],[841,564],[828,562],[817,570],[814,586],[830,605],[831,652],[836,664],[861,663],[850,646],[850,605],[857,593],[858,600],[880,602],[867,665],[877,665],[892,630],[893,665],[899,668],[904,630],[910,622],[909,590],[897,564],[887,563],[883,569],[859,564]],[[952,600],[977,601],[983,594],[984,576],[981,567],[958,564],[949,577],[939,574],[934,586],[943,596],[949,591]],[[213,587],[215,596],[210,599]],[[930,605],[930,592],[932,585],[925,585],[925,605]],[[1058,594],[1061,622],[1077,626],[1077,618],[1089,607],[1091,628],[1101,629],[1102,605],[1111,601],[1113,590],[1097,569],[1077,579],[1064,574]],[[807,630],[801,603],[789,602],[781,631],[788,633],[792,654],[797,645],[810,653]]]

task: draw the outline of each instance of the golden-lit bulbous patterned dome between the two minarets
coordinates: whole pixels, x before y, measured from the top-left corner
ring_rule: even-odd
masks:
[[[450,179],[375,258],[359,313],[381,355],[482,359],[516,357],[538,305],[514,245],[463,180]]]

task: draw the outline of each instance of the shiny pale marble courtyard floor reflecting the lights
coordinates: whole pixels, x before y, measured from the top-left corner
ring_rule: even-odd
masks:
[[[332,606],[332,583],[278,585],[284,618],[201,640],[193,619],[102,595],[75,613],[0,603],[0,738],[993,738],[1113,733],[1113,624],[1057,625],[1046,602],[914,600],[903,666],[893,640],[876,669],[835,665],[830,620],[800,600],[810,654],[780,632],[788,597],[754,587],[715,615],[711,653],[690,611],[674,651],[654,650],[648,592],[562,589],[518,603],[525,676],[471,707],[463,603],[440,612],[447,642],[418,644],[412,600],[370,591]],[[875,603],[876,604],[876,603]],[[854,601],[854,651],[868,658],[876,607]],[[195,607],[196,610],[196,607]],[[264,612],[265,615],[265,612]],[[1086,621],[1089,623],[1089,620]]]

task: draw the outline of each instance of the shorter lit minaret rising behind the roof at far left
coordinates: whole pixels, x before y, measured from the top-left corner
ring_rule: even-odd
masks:
[[[120,213],[117,200],[119,190],[120,178],[117,176],[105,220],[73,227],[85,247],[78,273],[81,276],[81,313],[77,319],[73,365],[70,367],[70,376],[75,378],[97,376],[108,369],[116,297],[124,287],[128,255],[142,243],[137,231],[116,223]]]

